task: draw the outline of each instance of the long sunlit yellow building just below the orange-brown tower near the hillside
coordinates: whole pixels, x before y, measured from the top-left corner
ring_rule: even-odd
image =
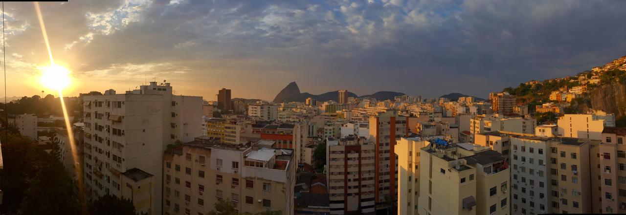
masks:
[[[480,134],[490,131],[508,131],[512,133],[535,133],[536,120],[504,116],[503,114],[477,115],[469,119],[469,133]],[[474,139],[474,135],[470,136]]]

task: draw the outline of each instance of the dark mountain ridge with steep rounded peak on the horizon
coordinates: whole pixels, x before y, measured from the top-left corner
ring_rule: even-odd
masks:
[[[394,99],[396,96],[403,96],[404,93],[397,93],[391,91],[380,91],[374,94],[369,94],[366,96],[357,96],[354,93],[348,92],[348,97],[354,98],[374,98],[377,100],[387,100]],[[282,102],[305,102],[307,98],[317,99],[317,101],[337,101],[339,98],[338,91],[331,91],[327,93],[322,93],[319,95],[310,94],[310,93],[300,93],[300,88],[298,88],[298,84],[295,82],[287,84],[285,88],[283,88],[274,98],[274,103],[282,103]]]

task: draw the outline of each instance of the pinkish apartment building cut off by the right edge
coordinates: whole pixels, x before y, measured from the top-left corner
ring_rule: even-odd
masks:
[[[597,153],[591,153],[592,158],[597,157],[597,176],[599,183],[598,193],[592,201],[597,202],[593,212],[600,213],[626,213],[626,128],[607,127],[602,131],[602,144]],[[596,156],[597,154],[597,156]],[[597,167],[597,168],[596,168]],[[595,190],[595,186],[592,187]],[[596,200],[598,199],[598,200]]]

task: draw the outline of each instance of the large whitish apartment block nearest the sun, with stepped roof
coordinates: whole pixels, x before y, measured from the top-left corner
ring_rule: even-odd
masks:
[[[86,191],[92,197],[122,197],[121,174],[140,169],[162,184],[163,151],[175,141],[200,136],[202,97],[172,94],[169,83],[151,82],[140,89],[116,94],[83,96],[85,113],[84,170]],[[156,197],[161,186],[153,186]],[[138,205],[138,202],[135,205]],[[137,208],[161,214],[161,201]]]

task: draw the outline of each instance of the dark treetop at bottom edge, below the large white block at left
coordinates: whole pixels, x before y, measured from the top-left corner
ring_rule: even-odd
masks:
[[[135,206],[130,199],[119,199],[113,195],[106,195],[91,203],[91,215],[135,215]]]

